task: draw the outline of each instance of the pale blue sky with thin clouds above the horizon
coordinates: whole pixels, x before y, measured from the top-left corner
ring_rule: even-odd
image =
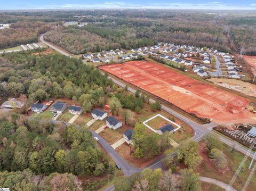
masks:
[[[256,0],[0,0],[0,10],[31,9],[211,9],[256,10]]]

